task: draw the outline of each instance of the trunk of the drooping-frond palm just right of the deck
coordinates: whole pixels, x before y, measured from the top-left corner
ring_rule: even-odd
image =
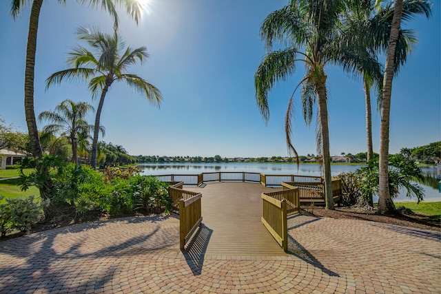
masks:
[[[326,81],[326,76],[324,76]],[[334,198],[332,198],[332,179],[331,179],[331,156],[329,154],[329,127],[328,109],[325,81],[316,85],[318,96],[318,116],[320,118],[321,148],[323,156],[323,167],[325,169],[325,201],[326,209],[335,209]]]

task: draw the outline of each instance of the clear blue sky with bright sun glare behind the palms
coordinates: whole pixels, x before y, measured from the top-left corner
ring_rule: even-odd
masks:
[[[269,123],[254,97],[254,72],[265,54],[258,31],[270,12],[287,0],[151,0],[138,26],[120,12],[120,34],[132,48],[147,47],[150,59],[131,67],[163,94],[161,108],[147,103],[123,83],[108,92],[102,140],[123,145],[132,155],[287,156],[284,117],[289,96],[304,74],[302,65],[269,94]],[[391,102],[390,152],[440,140],[440,1],[433,16],[406,25],[418,45],[395,78]],[[15,21],[10,1],[0,1],[0,115],[27,132],[23,106],[25,46],[30,7]],[[35,112],[66,98],[95,107],[83,83],[63,82],[45,91],[45,79],[65,68],[79,25],[112,30],[112,19],[75,1],[45,1],[41,10],[35,67]],[[331,154],[366,150],[365,105],[361,81],[339,67],[327,67]],[[294,145],[299,154],[316,154],[315,126],[305,127],[296,95]],[[373,105],[373,109],[376,109]],[[94,116],[90,115],[92,123]],[[314,120],[315,121],[315,120]],[[41,128],[42,125],[39,125]],[[373,113],[373,147],[378,152],[380,115]]]

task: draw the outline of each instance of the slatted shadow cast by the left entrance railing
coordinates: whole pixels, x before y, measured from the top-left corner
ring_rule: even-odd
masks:
[[[205,224],[201,224],[201,227],[193,235],[187,248],[181,250],[189,268],[192,269],[193,275],[201,275],[205,252],[207,251],[208,242],[212,237],[212,233],[212,229],[209,229]]]

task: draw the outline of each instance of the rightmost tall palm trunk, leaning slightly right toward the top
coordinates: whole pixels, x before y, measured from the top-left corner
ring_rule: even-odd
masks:
[[[389,47],[387,48],[386,64],[384,65],[383,97],[381,105],[380,125],[380,192],[378,195],[378,211],[380,213],[387,213],[389,211],[395,210],[395,205],[392,202],[391,193],[389,191],[389,118],[391,111],[393,67],[396,55],[398,35],[400,33],[401,15],[402,0],[396,0],[395,8],[393,11],[391,34],[389,36]]]

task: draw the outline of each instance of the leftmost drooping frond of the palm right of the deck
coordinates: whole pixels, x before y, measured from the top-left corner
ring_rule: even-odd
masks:
[[[277,81],[285,81],[296,70],[297,53],[296,48],[270,52],[254,74],[256,102],[266,122],[269,120],[268,92]]]

